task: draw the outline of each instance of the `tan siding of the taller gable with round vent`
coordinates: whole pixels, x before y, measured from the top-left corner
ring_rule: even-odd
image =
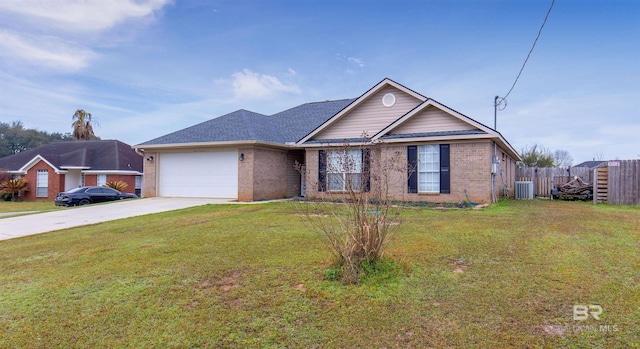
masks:
[[[396,96],[396,103],[392,107],[382,105],[382,97],[387,93],[393,93]],[[313,139],[359,138],[363,132],[371,137],[415,108],[420,102],[417,98],[395,87],[387,86],[329,125]]]

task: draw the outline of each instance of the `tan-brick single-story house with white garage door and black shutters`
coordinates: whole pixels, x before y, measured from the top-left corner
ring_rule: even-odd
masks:
[[[353,156],[356,171],[391,154],[415,166],[393,181],[390,196],[397,200],[459,202],[466,191],[471,201],[491,202],[494,149],[496,195],[511,196],[521,160],[499,132],[390,79],[356,99],[271,116],[238,110],[134,148],[145,157],[145,196],[255,201],[343,191],[330,178],[348,174],[328,173],[325,165],[345,142],[381,144],[375,154]],[[301,185],[296,163],[314,185]]]

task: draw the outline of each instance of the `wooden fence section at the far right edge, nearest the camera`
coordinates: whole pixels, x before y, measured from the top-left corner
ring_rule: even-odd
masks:
[[[596,168],[593,202],[611,205],[640,205],[640,160],[609,161]]]

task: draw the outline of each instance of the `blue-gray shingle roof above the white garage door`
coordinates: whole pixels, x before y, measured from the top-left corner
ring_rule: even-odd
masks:
[[[354,100],[305,103],[271,116],[241,109],[137,146],[230,141],[295,142]]]

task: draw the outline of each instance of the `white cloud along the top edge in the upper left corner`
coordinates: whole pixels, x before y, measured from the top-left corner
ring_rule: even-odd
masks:
[[[169,2],[171,0],[6,0],[0,1],[0,11],[66,31],[99,31],[128,18],[152,15]]]

